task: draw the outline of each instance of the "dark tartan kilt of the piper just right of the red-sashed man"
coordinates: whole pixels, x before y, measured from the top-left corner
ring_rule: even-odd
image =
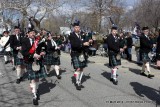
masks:
[[[60,57],[54,58],[52,53],[46,54],[44,56],[44,65],[60,65]]]

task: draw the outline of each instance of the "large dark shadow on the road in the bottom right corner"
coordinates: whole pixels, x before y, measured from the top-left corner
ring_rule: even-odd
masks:
[[[151,101],[156,102],[157,105],[160,105],[159,90],[145,86],[145,85],[138,83],[138,82],[131,82],[130,85],[133,87],[133,89],[137,95],[139,95],[140,97],[146,96]]]

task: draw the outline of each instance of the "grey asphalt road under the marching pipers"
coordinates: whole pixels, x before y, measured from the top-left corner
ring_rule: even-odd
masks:
[[[135,61],[135,55],[133,60]],[[139,75],[141,66],[122,60],[118,69],[117,86],[110,82],[108,58],[94,56],[84,69],[83,88],[76,90],[69,54],[61,55],[62,79],[52,76],[42,79],[39,85],[38,107],[157,107],[160,106],[160,71],[151,67],[153,79]],[[34,107],[29,81],[16,84],[16,72],[12,65],[4,65],[0,58],[0,107]],[[3,75],[2,75],[3,74]]]

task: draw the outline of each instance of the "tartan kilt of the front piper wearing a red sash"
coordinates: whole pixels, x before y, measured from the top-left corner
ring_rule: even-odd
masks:
[[[33,80],[33,79],[39,79],[39,78],[45,78],[47,76],[45,67],[43,64],[41,64],[40,71],[33,71],[32,69],[32,63],[27,63],[26,66],[27,72],[28,72],[28,79]]]

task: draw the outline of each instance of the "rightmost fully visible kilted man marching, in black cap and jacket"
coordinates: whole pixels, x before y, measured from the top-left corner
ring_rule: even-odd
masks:
[[[145,71],[147,71],[147,77],[151,78],[154,77],[154,75],[152,75],[150,71],[150,58],[148,56],[148,53],[152,50],[153,44],[151,42],[151,39],[149,38],[149,28],[143,27],[142,30],[143,33],[140,37],[140,51],[142,55],[143,66],[140,74],[146,76]]]

